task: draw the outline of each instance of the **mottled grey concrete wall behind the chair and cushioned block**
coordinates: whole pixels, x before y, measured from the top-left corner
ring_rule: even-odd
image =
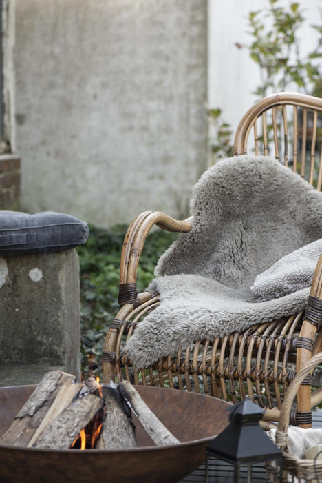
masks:
[[[206,0],[16,0],[22,208],[187,213],[206,166]]]

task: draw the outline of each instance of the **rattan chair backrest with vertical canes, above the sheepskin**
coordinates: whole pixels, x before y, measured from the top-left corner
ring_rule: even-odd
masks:
[[[250,108],[235,135],[234,154],[270,155],[321,191],[322,99],[273,94]]]

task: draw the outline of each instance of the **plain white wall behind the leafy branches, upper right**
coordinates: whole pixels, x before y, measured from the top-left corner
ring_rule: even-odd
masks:
[[[279,0],[278,6],[288,6],[290,0]],[[320,23],[321,0],[298,0],[305,9],[305,27],[299,31],[301,52],[316,46],[317,34],[311,23]],[[208,0],[208,105],[221,108],[222,115],[233,132],[246,110],[257,100],[252,91],[259,85],[259,68],[250,59],[246,48],[235,43],[249,44],[248,13],[267,8],[266,0]],[[298,88],[297,88],[298,89]]]

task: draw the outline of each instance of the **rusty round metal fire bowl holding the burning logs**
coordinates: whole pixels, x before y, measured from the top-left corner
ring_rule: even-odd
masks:
[[[0,437],[36,386],[0,388]],[[0,446],[0,481],[10,483],[175,483],[205,459],[208,442],[228,425],[229,403],[175,389],[136,386],[181,444],[153,446],[136,424],[138,448],[48,450]],[[135,420],[135,417],[134,417]]]

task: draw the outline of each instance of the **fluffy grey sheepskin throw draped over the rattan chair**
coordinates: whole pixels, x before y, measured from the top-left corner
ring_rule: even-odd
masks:
[[[292,315],[308,301],[308,286],[264,302],[250,290],[257,275],[322,237],[322,193],[299,175],[270,157],[224,159],[195,184],[191,214],[192,230],[160,257],[149,286],[160,305],[125,346],[137,368],[196,339]]]

